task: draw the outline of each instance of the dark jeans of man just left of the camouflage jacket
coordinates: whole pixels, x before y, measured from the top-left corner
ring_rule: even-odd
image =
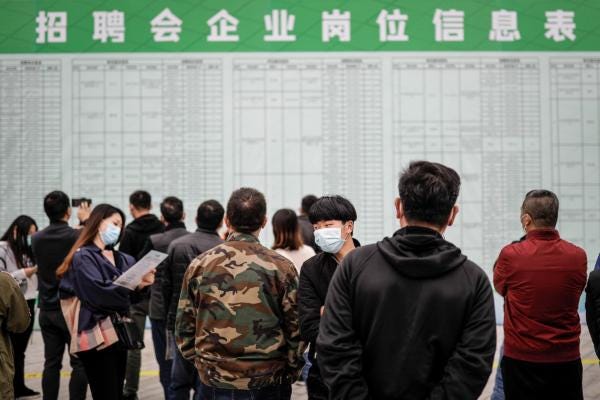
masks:
[[[190,390],[196,392],[194,400],[202,400],[200,394],[200,376],[196,366],[183,358],[177,343],[175,335],[169,335],[171,346],[173,346],[173,366],[171,367],[171,384],[169,385],[169,400],[189,400]]]

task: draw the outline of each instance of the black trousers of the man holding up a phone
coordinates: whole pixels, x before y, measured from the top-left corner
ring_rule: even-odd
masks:
[[[68,348],[71,334],[62,311],[40,310],[40,329],[44,340],[44,372],[42,374],[42,392],[44,400],[58,399],[60,389],[60,370],[62,369],[65,348]],[[87,378],[79,358],[70,356],[71,379],[69,381],[69,399],[83,400],[87,393]]]

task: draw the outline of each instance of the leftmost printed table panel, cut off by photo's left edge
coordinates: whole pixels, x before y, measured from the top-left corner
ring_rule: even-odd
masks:
[[[0,61],[0,229],[19,214],[45,225],[62,183],[60,60]]]

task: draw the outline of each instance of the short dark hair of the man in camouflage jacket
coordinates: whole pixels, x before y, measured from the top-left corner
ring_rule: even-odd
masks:
[[[256,232],[262,227],[266,216],[267,201],[258,190],[243,187],[231,193],[227,202],[227,219],[235,231]]]

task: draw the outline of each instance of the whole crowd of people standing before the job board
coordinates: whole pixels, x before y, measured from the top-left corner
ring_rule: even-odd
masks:
[[[268,247],[256,189],[235,190],[226,207],[202,202],[194,232],[177,197],[162,200],[158,218],[149,193],[132,193],[129,224],[113,205],[84,202],[71,227],[69,197],[51,192],[46,228],[22,215],[0,241],[0,398],[57,399],[65,349],[70,399],[88,386],[94,399],[138,398],[149,319],[169,400],[289,400],[297,380],[309,399],[477,399],[496,318],[486,273],[444,238],[459,190],[451,168],[412,162],[399,178],[392,236],[361,246],[350,200],[309,195],[299,215],[273,214]],[[600,270],[587,279],[585,251],[556,230],[558,211],[551,191],[528,192],[525,234],[493,266],[505,310],[493,399],[583,399],[584,290],[600,354]],[[137,287],[115,284],[152,250],[166,259]],[[24,379],[36,299],[42,394]]]

